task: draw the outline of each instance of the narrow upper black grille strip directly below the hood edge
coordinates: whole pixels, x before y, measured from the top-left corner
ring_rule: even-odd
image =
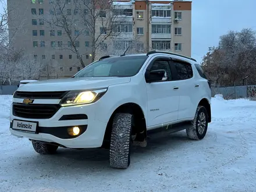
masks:
[[[61,99],[67,91],[51,91],[51,92],[28,92],[16,91],[14,98],[30,98],[30,99]]]

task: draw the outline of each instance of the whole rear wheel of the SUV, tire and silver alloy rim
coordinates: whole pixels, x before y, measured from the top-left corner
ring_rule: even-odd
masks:
[[[205,137],[208,128],[208,113],[204,106],[198,106],[192,126],[186,129],[187,137],[192,140],[201,140]]]

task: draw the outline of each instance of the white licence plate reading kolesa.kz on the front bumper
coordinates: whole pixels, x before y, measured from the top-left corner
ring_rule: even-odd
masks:
[[[13,120],[12,129],[16,131],[23,131],[27,133],[35,133],[37,130],[37,122],[27,122],[24,120]]]

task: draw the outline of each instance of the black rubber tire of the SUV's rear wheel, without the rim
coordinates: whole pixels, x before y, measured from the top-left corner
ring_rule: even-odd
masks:
[[[198,131],[198,119],[200,118],[200,114],[204,113],[205,115],[205,129],[202,134]],[[208,113],[207,109],[204,106],[198,106],[197,111],[195,112],[194,120],[191,122],[191,126],[186,129],[187,137],[191,140],[201,140],[205,137],[208,128]]]

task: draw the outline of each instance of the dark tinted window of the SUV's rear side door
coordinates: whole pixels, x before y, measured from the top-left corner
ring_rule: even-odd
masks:
[[[186,63],[173,62],[177,71],[177,80],[189,79],[193,76],[191,66]]]

